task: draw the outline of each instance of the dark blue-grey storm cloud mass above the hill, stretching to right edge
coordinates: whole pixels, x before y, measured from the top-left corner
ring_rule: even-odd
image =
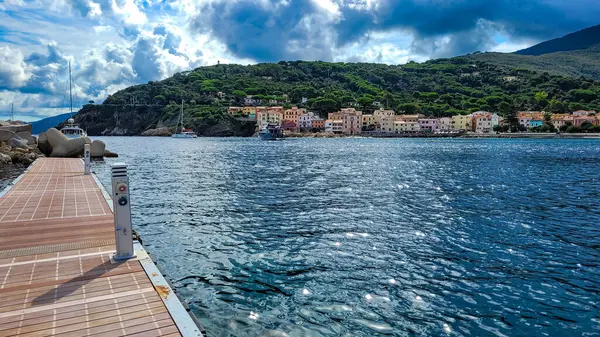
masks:
[[[414,52],[452,56],[489,48],[496,33],[544,40],[600,21],[590,14],[600,13],[598,0],[568,5],[562,0],[381,0],[370,9],[361,1],[337,3],[341,16],[330,19],[310,0],[271,0],[268,6],[248,0],[212,2],[200,9],[192,26],[210,31],[237,56],[277,61],[316,51],[316,57],[328,59],[332,47],[366,41],[375,32],[408,31]],[[442,36],[449,41],[440,44]],[[290,42],[299,48],[290,50]]]

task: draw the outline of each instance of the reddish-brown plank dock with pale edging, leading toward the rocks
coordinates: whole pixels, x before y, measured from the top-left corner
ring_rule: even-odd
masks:
[[[41,158],[0,197],[0,336],[202,336],[143,247],[115,263],[110,196]]]

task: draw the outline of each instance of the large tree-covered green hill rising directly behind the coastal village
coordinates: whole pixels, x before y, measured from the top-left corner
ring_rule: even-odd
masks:
[[[119,127],[126,130],[121,133],[138,134],[147,128],[174,125],[177,104],[183,99],[187,102],[186,124],[202,133],[199,128],[226,118],[222,114],[225,107],[242,104],[247,95],[264,102],[279,101],[273,104],[287,101],[287,105],[306,107],[321,115],[352,104],[372,111],[375,102],[397,113],[431,116],[477,110],[506,114],[530,109],[600,109],[600,83],[593,80],[511,69],[463,57],[401,66],[293,61],[200,67],[121,90],[101,107],[86,106],[77,120],[88,130],[94,127],[107,133]],[[303,98],[307,101],[301,104]],[[140,105],[132,112],[128,105],[132,102],[145,107]],[[85,118],[86,114],[90,118]],[[102,125],[91,125],[94,123]]]

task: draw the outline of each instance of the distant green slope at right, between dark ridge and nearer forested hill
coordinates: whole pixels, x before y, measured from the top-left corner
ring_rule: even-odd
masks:
[[[539,56],[476,53],[464,57],[476,61],[493,62],[509,68],[600,80],[600,44],[582,50],[554,52]]]

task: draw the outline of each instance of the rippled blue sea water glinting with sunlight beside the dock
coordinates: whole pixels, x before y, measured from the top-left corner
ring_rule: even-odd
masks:
[[[103,140],[210,336],[600,335],[600,140]]]

